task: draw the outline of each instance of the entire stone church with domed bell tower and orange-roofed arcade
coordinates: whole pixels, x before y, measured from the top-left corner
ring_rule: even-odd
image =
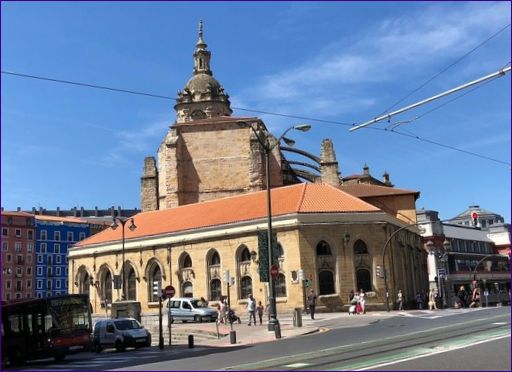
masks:
[[[193,59],[193,76],[174,106],[176,121],[156,158],[144,159],[135,227],[109,228],[69,249],[70,293],[89,293],[95,313],[123,293],[139,301],[143,313],[157,312],[154,282],[211,303],[229,291],[238,310],[249,294],[267,301],[268,283],[261,277],[268,272],[266,169],[259,135],[276,144],[268,176],[278,314],[304,306],[306,285],[319,295],[319,310],[348,308],[351,290],[364,290],[369,307],[382,308],[384,250],[391,299],[399,289],[408,299],[428,290],[427,254],[418,229],[407,227],[416,222],[419,192],[393,187],[387,173],[377,181],[366,168],[344,182],[330,139],[315,156],[276,143],[259,118],[232,116],[229,96],[213,77],[202,23]],[[298,169],[286,151],[314,164]],[[299,280],[299,272],[306,280]],[[119,277],[125,278],[121,286],[114,280]]]

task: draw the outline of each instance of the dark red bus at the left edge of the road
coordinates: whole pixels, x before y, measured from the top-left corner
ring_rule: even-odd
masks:
[[[2,364],[53,357],[91,348],[89,295],[71,294],[2,303]]]

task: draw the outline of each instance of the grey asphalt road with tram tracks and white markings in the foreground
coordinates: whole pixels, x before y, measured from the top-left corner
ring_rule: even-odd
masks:
[[[357,323],[354,318],[354,325]],[[511,370],[510,307],[402,314],[366,326],[229,348],[146,348],[30,362],[22,370]]]

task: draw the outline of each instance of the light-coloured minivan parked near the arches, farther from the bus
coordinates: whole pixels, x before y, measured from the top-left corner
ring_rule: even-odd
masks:
[[[213,322],[217,320],[217,310],[208,307],[208,304],[197,298],[171,298],[167,302],[167,309],[171,312],[171,322],[181,320],[193,322]]]

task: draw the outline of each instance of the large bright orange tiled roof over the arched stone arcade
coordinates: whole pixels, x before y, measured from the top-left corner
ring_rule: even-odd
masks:
[[[367,213],[381,212],[377,207],[326,184],[297,184],[272,189],[272,216],[295,213]],[[139,213],[137,229],[125,228],[126,239],[155,236],[267,216],[266,191],[188,204],[176,208]],[[77,246],[121,240],[121,228],[106,229],[81,241]]]

